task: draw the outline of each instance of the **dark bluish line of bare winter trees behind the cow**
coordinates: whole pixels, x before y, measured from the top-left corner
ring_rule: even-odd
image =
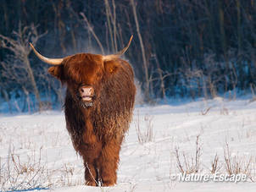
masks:
[[[63,88],[28,42],[49,58],[125,54],[145,101],[253,91],[253,0],[1,0],[0,92],[19,111],[52,107]],[[35,101],[34,98],[35,97]],[[10,103],[17,98],[17,103]]]

